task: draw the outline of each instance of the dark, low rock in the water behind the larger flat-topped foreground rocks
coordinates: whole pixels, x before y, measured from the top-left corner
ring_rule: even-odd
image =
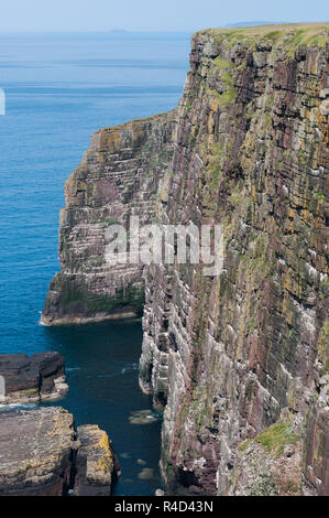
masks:
[[[56,352],[0,355],[0,376],[4,382],[2,403],[30,403],[56,399],[68,390],[64,359]]]

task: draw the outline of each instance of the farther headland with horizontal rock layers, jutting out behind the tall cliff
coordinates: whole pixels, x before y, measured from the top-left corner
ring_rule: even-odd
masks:
[[[173,155],[175,111],[106,128],[65,185],[61,213],[62,271],[52,280],[41,322],[45,325],[141,315],[143,266],[106,260],[107,228],[155,218],[156,193]]]

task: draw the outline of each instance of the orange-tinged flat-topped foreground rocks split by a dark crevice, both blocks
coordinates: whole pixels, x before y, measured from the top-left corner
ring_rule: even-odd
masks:
[[[80,427],[77,440],[74,418],[62,408],[1,413],[0,496],[81,495],[84,484],[89,495],[110,495],[114,458],[106,432]]]

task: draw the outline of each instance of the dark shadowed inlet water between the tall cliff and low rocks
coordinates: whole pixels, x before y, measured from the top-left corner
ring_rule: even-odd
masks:
[[[162,416],[139,388],[141,322],[52,327],[46,334],[66,360],[69,384],[68,395],[51,404],[69,410],[77,425],[92,422],[108,432],[122,470],[114,495],[154,494],[161,487]]]

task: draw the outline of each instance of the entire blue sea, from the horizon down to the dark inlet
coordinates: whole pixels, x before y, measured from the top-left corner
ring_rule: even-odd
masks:
[[[141,324],[47,328],[39,319],[58,270],[63,185],[90,134],[174,108],[188,52],[189,34],[0,35],[0,352],[64,355],[70,391],[61,404],[108,431],[122,466],[118,495],[161,484],[161,420],[138,387]],[[130,423],[140,410],[150,424]]]

